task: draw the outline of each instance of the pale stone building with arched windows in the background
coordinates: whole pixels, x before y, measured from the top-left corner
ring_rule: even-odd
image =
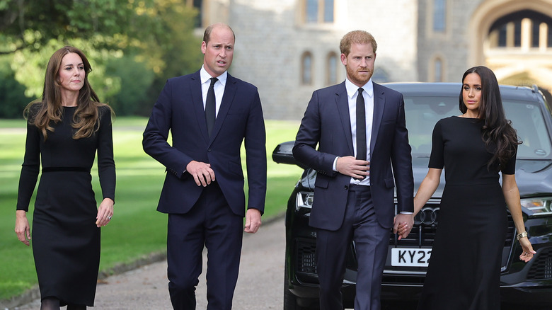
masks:
[[[377,82],[459,82],[482,64],[552,89],[552,0],[186,1],[200,28],[234,29],[231,74],[258,86],[267,119],[300,119],[312,91],[345,79],[339,41],[355,29],[378,42]]]

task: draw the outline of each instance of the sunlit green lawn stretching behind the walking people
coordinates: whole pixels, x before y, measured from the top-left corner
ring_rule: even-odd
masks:
[[[143,117],[117,117],[114,123],[116,204],[113,220],[102,229],[100,270],[131,263],[166,248],[166,215],[156,212],[164,168],[142,151],[146,121]],[[301,173],[297,166],[272,161],[272,150],[278,143],[295,138],[299,122],[267,121],[266,126],[268,193],[265,221],[284,212],[292,186]],[[25,121],[0,120],[0,300],[21,294],[37,283],[32,250],[18,241],[13,231],[24,144]],[[96,193],[100,193],[97,173],[93,173],[93,185]],[[33,205],[32,201],[28,213],[30,222]]]

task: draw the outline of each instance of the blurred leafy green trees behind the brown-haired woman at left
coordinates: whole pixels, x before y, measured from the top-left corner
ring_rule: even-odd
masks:
[[[118,115],[148,115],[166,79],[201,64],[198,12],[185,2],[0,0],[0,54],[13,56],[11,69],[25,96],[39,98],[52,53],[79,47],[91,62],[89,79],[100,100],[112,102]]]

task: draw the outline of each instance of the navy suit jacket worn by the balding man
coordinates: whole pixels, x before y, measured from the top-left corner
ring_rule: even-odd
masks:
[[[171,131],[172,145],[168,144]],[[245,141],[248,208],[265,208],[266,135],[257,88],[228,74],[222,103],[207,135],[200,71],[168,79],[151,112],[142,141],[144,151],[168,172],[157,210],[184,214],[197,202],[203,186],[185,172],[190,161],[210,163],[234,214],[245,216],[240,149]],[[209,186],[209,185],[207,185]]]

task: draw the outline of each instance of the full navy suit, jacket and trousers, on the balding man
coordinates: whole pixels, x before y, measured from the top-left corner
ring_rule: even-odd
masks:
[[[167,143],[169,130],[172,146]],[[209,138],[200,71],[168,79],[144,131],[143,145],[144,151],[168,171],[157,209],[169,214],[168,277],[175,308],[195,309],[194,291],[201,272],[204,244],[208,251],[209,308],[231,308],[246,206],[240,157],[243,141],[248,206],[259,209],[262,214],[266,195],[266,148],[257,88],[228,74]],[[216,181],[205,188],[198,186],[185,172],[192,160],[210,163]]]

